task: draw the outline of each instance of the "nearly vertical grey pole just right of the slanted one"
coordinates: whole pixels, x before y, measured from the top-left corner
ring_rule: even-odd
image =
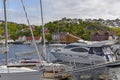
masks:
[[[43,54],[44,54],[44,59],[46,60],[45,28],[44,28],[44,20],[43,20],[42,0],[40,0],[40,12],[41,12],[41,22],[42,22],[42,34],[43,34]]]

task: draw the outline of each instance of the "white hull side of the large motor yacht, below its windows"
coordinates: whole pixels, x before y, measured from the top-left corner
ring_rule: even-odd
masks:
[[[95,63],[103,63],[105,62],[104,57],[99,57],[96,55],[80,55],[79,54],[65,54],[65,53],[57,53],[52,52],[52,54],[57,58],[57,60],[65,61],[65,62],[75,62],[80,64],[95,64]]]

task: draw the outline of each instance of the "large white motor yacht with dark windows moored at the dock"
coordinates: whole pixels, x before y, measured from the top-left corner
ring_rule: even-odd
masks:
[[[51,53],[62,62],[100,64],[115,61],[111,45],[116,41],[79,41],[64,48],[52,49]]]

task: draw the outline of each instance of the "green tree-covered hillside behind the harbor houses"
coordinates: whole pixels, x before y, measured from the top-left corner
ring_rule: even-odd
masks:
[[[117,36],[120,36],[120,28],[108,28],[105,25],[102,25],[98,22],[85,22],[79,20],[79,23],[70,22],[72,19],[66,19],[67,21],[54,21],[48,22],[45,24],[45,28],[49,30],[47,33],[46,39],[48,41],[52,40],[52,34],[58,32],[69,32],[73,35],[81,37],[85,40],[90,39],[90,34],[92,31],[104,31],[110,30],[115,31]],[[0,34],[4,33],[4,23],[0,24]],[[42,26],[35,26],[33,29],[34,36],[41,36],[42,35]],[[8,34],[11,39],[15,40],[18,36],[31,36],[31,32],[29,27],[25,24],[16,24],[8,22]]]

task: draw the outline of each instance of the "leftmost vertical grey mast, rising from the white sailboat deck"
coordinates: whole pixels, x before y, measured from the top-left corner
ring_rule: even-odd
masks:
[[[3,1],[4,3],[4,18],[5,18],[5,27],[4,27],[4,30],[5,30],[5,60],[6,60],[6,65],[8,65],[8,51],[7,51],[7,48],[8,48],[8,29],[7,29],[7,15],[6,15],[6,0]]]

